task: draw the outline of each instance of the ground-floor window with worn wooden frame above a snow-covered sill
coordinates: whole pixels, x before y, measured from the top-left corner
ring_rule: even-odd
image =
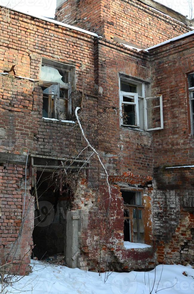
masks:
[[[144,243],[142,193],[122,190],[124,202],[124,241]]]

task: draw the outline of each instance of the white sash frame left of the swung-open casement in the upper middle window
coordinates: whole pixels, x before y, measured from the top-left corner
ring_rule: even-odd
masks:
[[[132,96],[134,97],[134,102],[126,102],[123,101],[123,96]],[[138,93],[129,93],[129,92],[119,92],[119,100],[120,100],[120,124],[122,126],[126,127],[133,127],[133,128],[139,128],[139,104],[138,104]],[[128,105],[135,105],[135,125],[125,125],[123,123],[123,104]]]

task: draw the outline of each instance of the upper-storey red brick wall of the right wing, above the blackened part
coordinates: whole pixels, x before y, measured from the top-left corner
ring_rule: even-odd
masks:
[[[163,95],[164,130],[153,133],[155,167],[193,162],[188,74],[194,72],[194,38],[152,50],[152,94]]]

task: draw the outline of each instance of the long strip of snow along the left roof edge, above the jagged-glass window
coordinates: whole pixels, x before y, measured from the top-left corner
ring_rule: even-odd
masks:
[[[2,5],[0,5],[0,7],[2,7]],[[22,14],[25,14],[25,15],[28,15],[28,16],[32,16],[34,18],[41,19],[41,20],[44,20],[46,22],[51,22],[51,23],[54,23],[55,25],[65,27],[67,29],[75,30],[77,32],[81,32],[81,33],[84,33],[84,34],[87,34],[87,35],[90,35],[90,36],[93,36],[93,37],[98,37],[98,35],[95,34],[95,33],[80,29],[80,28],[78,28],[76,26],[70,26],[70,25],[68,25],[68,24],[66,24],[64,22],[59,22],[57,20],[50,19],[50,18],[47,18],[47,17],[44,17],[44,16],[37,16],[37,15],[30,14],[30,13],[27,13],[27,12],[24,12],[24,11],[21,11],[21,10],[16,10],[16,9],[11,9],[11,11],[15,11],[15,12],[22,13]]]

